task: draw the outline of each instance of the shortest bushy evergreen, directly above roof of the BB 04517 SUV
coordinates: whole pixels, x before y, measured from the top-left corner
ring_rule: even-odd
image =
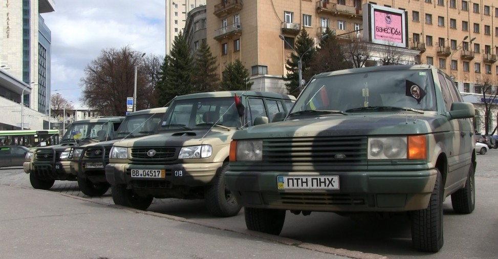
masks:
[[[223,70],[223,80],[220,85],[221,91],[246,91],[251,90],[254,82],[249,82],[249,71],[244,67],[240,59],[228,63]]]

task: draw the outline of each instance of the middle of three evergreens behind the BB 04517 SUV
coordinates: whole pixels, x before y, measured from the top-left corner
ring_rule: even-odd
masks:
[[[192,75],[192,84],[195,92],[212,92],[219,88],[220,77],[216,70],[216,57],[211,53],[211,48],[202,42],[201,48],[196,53],[196,61],[194,65],[194,73]]]

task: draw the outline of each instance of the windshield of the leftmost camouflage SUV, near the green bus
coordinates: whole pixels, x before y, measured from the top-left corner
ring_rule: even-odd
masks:
[[[107,131],[109,127],[107,122],[87,122],[87,123],[73,123],[64,134],[62,141],[74,141],[78,139],[97,139],[99,141],[106,140],[109,136]]]

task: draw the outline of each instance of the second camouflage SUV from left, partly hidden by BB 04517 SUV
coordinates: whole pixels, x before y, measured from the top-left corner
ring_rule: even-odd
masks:
[[[105,165],[109,151],[117,141],[156,133],[167,107],[141,110],[127,115],[114,133],[114,139],[82,146],[73,146],[70,168],[77,176],[79,189],[88,196],[101,196],[111,186],[105,180]]]

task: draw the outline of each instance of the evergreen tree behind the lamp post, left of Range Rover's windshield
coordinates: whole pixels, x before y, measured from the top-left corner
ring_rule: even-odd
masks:
[[[287,41],[285,42],[286,45],[288,45],[289,43],[290,42]],[[284,80],[287,81],[285,84],[287,92],[290,95],[294,95],[297,97],[300,93],[298,69],[299,57],[301,57],[301,74],[305,75],[307,74],[306,72],[310,69],[309,63],[313,59],[316,49],[314,47],[313,39],[310,38],[310,35],[304,28],[302,28],[302,30],[296,37],[295,47],[291,47],[294,48],[296,53],[292,53],[291,58],[287,60],[285,66],[287,69],[287,75],[284,77]],[[309,78],[305,78],[303,76],[302,79],[306,80]]]

